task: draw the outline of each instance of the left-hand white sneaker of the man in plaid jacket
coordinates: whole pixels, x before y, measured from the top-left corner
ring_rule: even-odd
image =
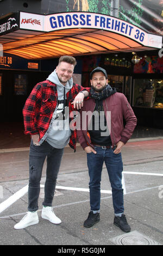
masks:
[[[30,225],[35,225],[39,223],[39,217],[37,215],[37,211],[31,212],[28,211],[27,215],[25,215],[20,222],[18,222],[14,228],[15,229],[23,229],[27,228]]]

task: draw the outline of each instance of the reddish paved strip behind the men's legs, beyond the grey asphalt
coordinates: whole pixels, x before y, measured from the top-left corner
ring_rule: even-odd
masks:
[[[0,158],[0,182],[28,179],[29,147],[0,149]],[[163,136],[130,139],[122,148],[122,159],[124,166],[163,160]],[[60,173],[76,173],[83,170],[87,170],[85,151],[79,143],[76,153],[67,145],[62,157]],[[42,175],[46,175],[46,161]]]

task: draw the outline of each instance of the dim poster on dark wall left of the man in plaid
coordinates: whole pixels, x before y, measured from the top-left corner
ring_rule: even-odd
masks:
[[[15,74],[14,94],[15,95],[27,94],[27,75]]]

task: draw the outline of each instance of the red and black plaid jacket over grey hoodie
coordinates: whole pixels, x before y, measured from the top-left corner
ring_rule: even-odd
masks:
[[[69,112],[74,111],[73,104],[71,102],[77,94],[84,90],[90,90],[90,88],[83,88],[78,84],[73,83],[73,87],[66,94]],[[24,108],[24,133],[27,135],[40,135],[40,139],[45,135],[48,126],[51,122],[53,112],[57,106],[57,86],[49,80],[37,83],[30,93]],[[73,118],[70,118],[70,121]],[[76,149],[77,131],[71,130],[70,147]]]

